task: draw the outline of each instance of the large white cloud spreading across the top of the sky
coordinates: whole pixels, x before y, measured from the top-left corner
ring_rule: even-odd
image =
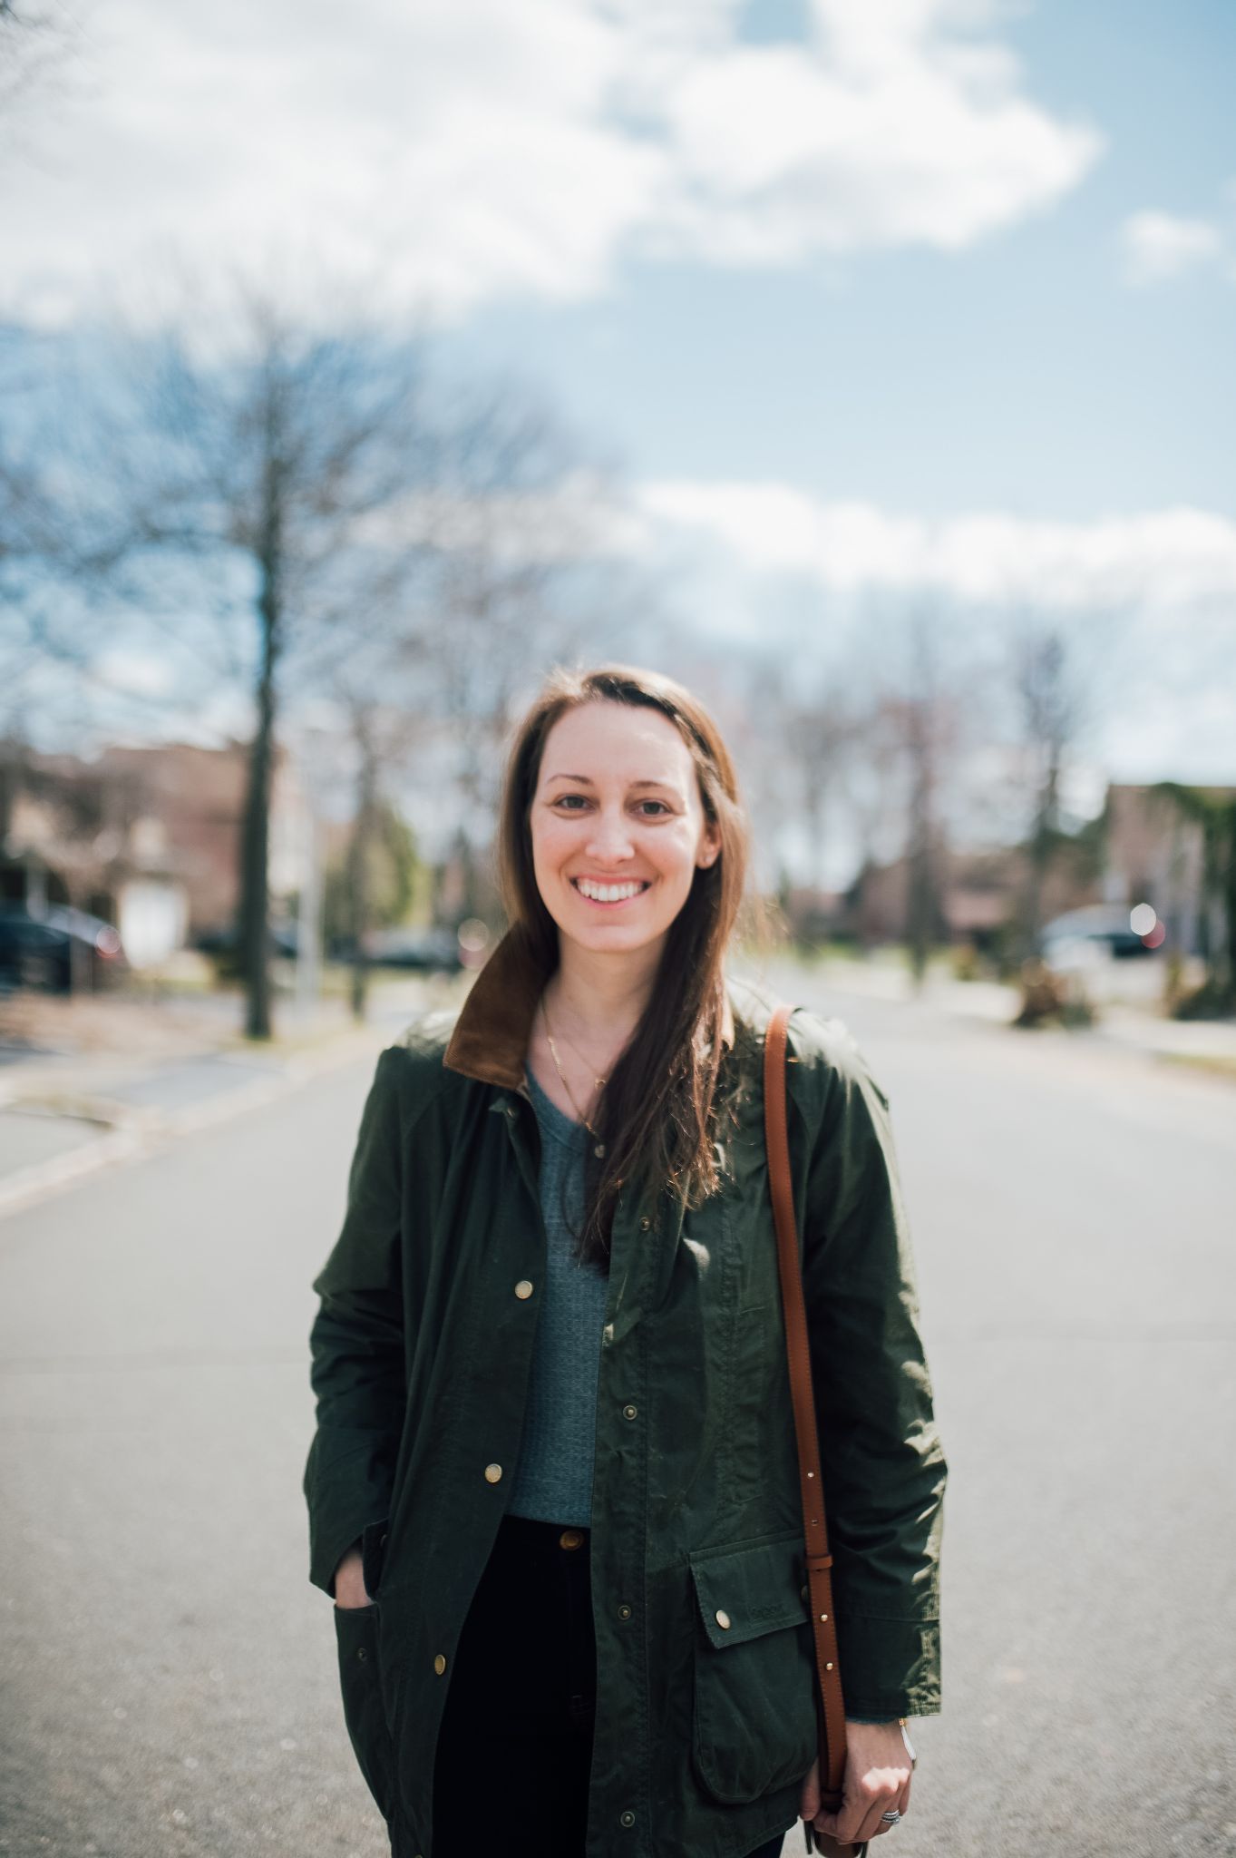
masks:
[[[815,0],[804,45],[752,46],[737,0],[95,0],[89,87],[0,204],[7,308],[74,314],[167,247],[442,312],[585,297],[640,251],[954,251],[1102,145],[1024,93],[1000,13]]]

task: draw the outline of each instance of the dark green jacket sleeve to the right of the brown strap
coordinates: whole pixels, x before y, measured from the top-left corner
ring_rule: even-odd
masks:
[[[794,1024],[804,1295],[846,1713],[935,1715],[948,1466],[889,1102],[839,1022],[817,1018],[802,1040]],[[794,1120],[791,1109],[791,1135]]]

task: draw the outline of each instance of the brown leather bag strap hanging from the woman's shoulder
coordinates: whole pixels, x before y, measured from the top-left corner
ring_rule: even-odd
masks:
[[[772,1215],[778,1228],[778,1265],[781,1271],[781,1306],[785,1312],[785,1343],[789,1353],[791,1397],[794,1403],[794,1434],[798,1438],[807,1594],[811,1598],[815,1665],[824,1706],[820,1711],[820,1804],[835,1812],[841,1806],[841,1782],[846,1767],[846,1715],[841,1693],[841,1663],[837,1659],[833,1583],[828,1572],[833,1557],[828,1551],[820,1444],[815,1429],[815,1394],[811,1388],[811,1349],[807,1341],[807,1312],[802,1297],[802,1263],[798,1258],[798,1230],[794,1226],[794,1184],[789,1159],[785,1046],[792,1011],[789,1005],[779,1005],[768,1022],[765,1037],[765,1139],[768,1145]],[[848,1845],[835,1849],[852,1851]]]

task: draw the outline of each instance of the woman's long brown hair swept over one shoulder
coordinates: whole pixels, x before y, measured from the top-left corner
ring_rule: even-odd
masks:
[[[559,964],[559,925],[536,884],[529,810],[549,730],[586,702],[661,710],[690,751],[703,812],[720,832],[720,855],[696,868],[670,923],[651,998],[598,1104],[605,1154],[599,1169],[588,1163],[579,1258],[607,1265],[620,1189],[655,1197],[668,1187],[683,1206],[698,1206],[720,1184],[713,1143],[726,1009],[722,962],[746,888],[750,840],[729,751],[703,704],[681,684],[633,665],[553,671],[516,730],[497,844],[512,933],[525,936],[546,981]]]

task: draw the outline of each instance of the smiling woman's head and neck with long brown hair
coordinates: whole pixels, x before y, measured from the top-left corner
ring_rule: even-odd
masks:
[[[668,678],[557,673],[510,760],[501,864],[547,975],[529,1063],[605,1159],[581,1239],[599,1263],[624,1182],[716,1182],[722,961],[746,883],[716,726]]]

